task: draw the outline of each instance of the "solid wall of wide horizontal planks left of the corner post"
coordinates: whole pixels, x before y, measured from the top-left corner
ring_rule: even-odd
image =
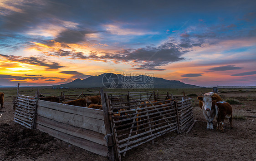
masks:
[[[36,129],[87,151],[107,156],[102,110],[38,100]]]

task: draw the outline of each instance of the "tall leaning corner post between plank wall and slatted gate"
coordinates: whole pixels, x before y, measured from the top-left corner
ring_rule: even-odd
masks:
[[[103,92],[103,88],[100,88],[100,95],[101,95],[101,101],[102,101],[102,110],[103,110],[103,117],[105,121],[105,129],[106,129],[106,134],[113,134],[112,129],[111,129],[111,122],[109,121],[108,117],[108,107],[107,107],[107,102],[105,99],[105,95]],[[107,136],[106,135],[106,136]],[[107,138],[107,146],[108,146],[108,158],[111,161],[115,160],[115,154],[114,154],[114,144],[113,144],[113,135]]]

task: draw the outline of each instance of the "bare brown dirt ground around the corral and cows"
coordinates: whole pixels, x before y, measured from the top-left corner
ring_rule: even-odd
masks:
[[[219,93],[226,99],[241,102],[233,107],[233,114],[256,116],[256,91],[241,93]],[[194,101],[194,117],[199,120],[187,134],[174,132],[165,134],[151,142],[127,151],[123,161],[152,160],[256,160],[256,118],[233,119],[234,129],[230,130],[225,121],[225,132],[207,130],[205,118]],[[6,99],[4,109],[0,109],[0,160],[50,160],[50,161],[108,161],[108,158],[68,144],[47,133],[31,130],[13,122],[12,102]],[[214,122],[216,128],[216,121]]]

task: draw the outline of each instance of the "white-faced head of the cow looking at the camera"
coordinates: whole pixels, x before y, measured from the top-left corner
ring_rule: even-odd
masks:
[[[213,95],[214,93],[205,93],[202,96],[197,97],[199,101],[203,102],[203,107],[205,111],[210,111],[212,108],[212,102],[214,102],[217,97]]]

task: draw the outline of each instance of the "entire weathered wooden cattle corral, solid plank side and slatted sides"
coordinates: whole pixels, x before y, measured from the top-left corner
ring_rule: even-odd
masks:
[[[110,160],[121,160],[126,151],[148,141],[154,144],[155,138],[168,132],[185,132],[194,121],[191,98],[177,98],[168,92],[159,95],[158,91],[104,93],[103,89],[100,95],[103,110],[48,102],[37,97],[22,98],[17,92],[15,122],[108,156]],[[27,119],[30,113],[33,115]]]

